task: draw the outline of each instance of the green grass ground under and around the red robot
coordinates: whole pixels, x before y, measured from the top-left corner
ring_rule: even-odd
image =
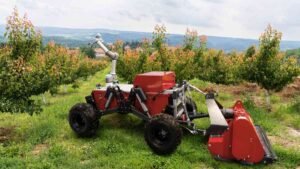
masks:
[[[268,133],[279,160],[271,165],[246,166],[214,160],[202,136],[184,134],[181,145],[169,156],[152,153],[144,141],[141,120],[131,115],[113,114],[103,117],[94,138],[82,139],[71,131],[67,115],[72,105],[84,101],[95,84],[103,83],[108,69],[98,72],[78,89],[61,87],[56,96],[46,94],[43,112],[28,114],[0,114],[0,168],[297,168],[300,166],[300,103],[299,100],[272,96],[273,112],[256,108],[251,97],[261,99],[260,92],[233,94],[229,87],[219,88],[219,100],[232,106],[234,100],[246,101],[256,124]],[[210,84],[199,80],[191,83],[205,88]],[[235,88],[231,86],[231,88]],[[224,92],[222,92],[224,89]],[[250,92],[251,94],[251,92]],[[41,100],[42,96],[35,99]],[[198,107],[206,111],[204,98],[194,94]],[[199,127],[207,127],[208,119],[198,120]]]

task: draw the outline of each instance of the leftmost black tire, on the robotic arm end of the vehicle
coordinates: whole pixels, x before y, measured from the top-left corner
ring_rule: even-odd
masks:
[[[99,127],[94,107],[88,103],[78,103],[69,112],[69,124],[80,137],[94,136]]]

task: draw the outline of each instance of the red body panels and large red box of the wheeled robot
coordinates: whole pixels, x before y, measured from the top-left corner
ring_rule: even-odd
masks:
[[[122,85],[120,89],[123,91],[125,99],[128,98],[131,88],[140,87],[145,92],[146,106],[149,109],[151,116],[160,114],[168,105],[170,94],[163,92],[173,88],[175,83],[174,72],[148,72],[136,75],[133,85]],[[105,110],[105,103],[107,101],[106,88],[93,90],[92,95],[99,110]],[[141,110],[141,105],[135,102],[134,105],[138,110]],[[117,101],[114,98],[108,107],[109,109],[117,108]]]

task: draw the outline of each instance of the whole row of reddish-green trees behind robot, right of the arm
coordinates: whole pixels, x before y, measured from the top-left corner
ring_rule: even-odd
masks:
[[[142,50],[129,50],[120,56],[117,71],[127,81],[146,71],[174,71],[178,81],[199,78],[220,84],[235,84],[242,80],[256,82],[267,90],[281,90],[299,75],[293,57],[279,51],[281,33],[270,26],[260,38],[260,47],[250,46],[245,53],[207,49],[206,37],[187,31],[183,47],[168,47],[166,28],[156,26],[152,45]]]

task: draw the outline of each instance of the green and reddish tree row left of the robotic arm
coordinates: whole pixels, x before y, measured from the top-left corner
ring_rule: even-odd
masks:
[[[7,46],[0,48],[0,112],[39,112],[33,95],[55,92],[59,85],[75,83],[105,66],[54,43],[42,51],[41,34],[16,9],[8,19],[6,37]]]

